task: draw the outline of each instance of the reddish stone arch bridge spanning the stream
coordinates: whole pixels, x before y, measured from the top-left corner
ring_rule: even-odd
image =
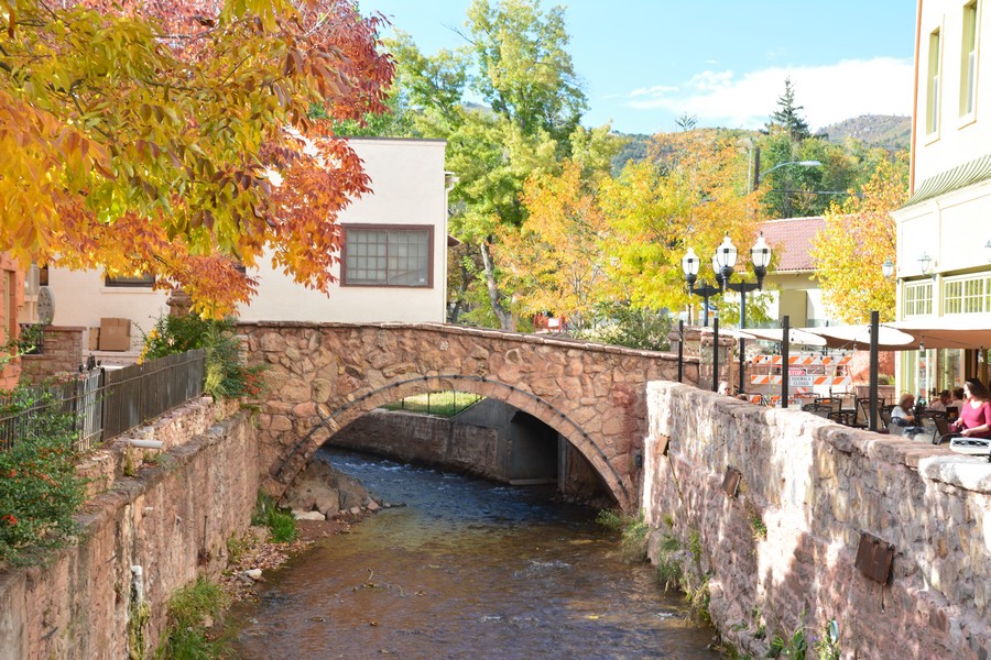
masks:
[[[249,360],[269,365],[260,469],[285,490],[338,429],[383,404],[456,389],[508,403],[566,438],[621,507],[636,506],[646,383],[677,360],[535,334],[443,323],[242,323]],[[697,364],[686,381],[697,377]]]

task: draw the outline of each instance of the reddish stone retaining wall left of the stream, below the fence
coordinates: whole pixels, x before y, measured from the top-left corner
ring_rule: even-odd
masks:
[[[97,472],[112,485],[84,507],[78,544],[46,566],[0,572],[0,660],[127,658],[138,565],[151,609],[146,650],[157,646],[168,596],[218,573],[227,539],[250,524],[254,428],[246,413],[215,421],[224,415],[205,398],[163,417],[161,437],[155,425],[135,431],[171,449],[134,477],[122,473],[120,442],[94,459],[110,465]]]

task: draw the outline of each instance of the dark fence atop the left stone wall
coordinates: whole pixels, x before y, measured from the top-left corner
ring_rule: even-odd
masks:
[[[76,449],[89,449],[198,397],[205,370],[204,351],[187,351],[0,396],[0,451],[43,432],[52,413],[69,416]]]

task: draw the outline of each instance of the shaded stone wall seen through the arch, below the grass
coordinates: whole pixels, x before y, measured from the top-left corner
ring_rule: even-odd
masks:
[[[428,415],[372,410],[331,436],[329,443],[498,479],[498,441],[493,429]]]

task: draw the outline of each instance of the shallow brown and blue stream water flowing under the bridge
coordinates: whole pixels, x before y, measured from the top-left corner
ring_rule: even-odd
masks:
[[[379,498],[266,575],[236,610],[238,658],[707,658],[712,630],[631,566],[595,512],[350,452],[317,457]]]

